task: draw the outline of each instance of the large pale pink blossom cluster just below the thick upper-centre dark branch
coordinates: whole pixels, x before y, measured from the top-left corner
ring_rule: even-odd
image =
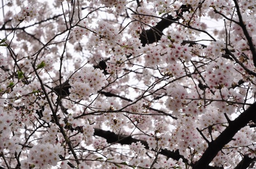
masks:
[[[183,66],[180,60],[189,62],[192,58],[191,47],[188,44],[181,45],[185,35],[183,32],[172,31],[168,37],[161,37],[159,46],[149,45],[143,49],[145,52],[145,65],[163,67],[161,72],[170,77],[184,76]]]

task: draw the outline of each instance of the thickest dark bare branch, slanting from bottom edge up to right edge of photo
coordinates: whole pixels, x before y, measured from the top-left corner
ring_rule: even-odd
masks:
[[[249,123],[250,120],[256,119],[256,102],[246,111],[240,114],[237,119],[231,121],[229,126],[212,142],[203,153],[202,157],[193,166],[193,169],[206,169],[209,163],[221,151],[222,147],[232,140],[235,134]]]

